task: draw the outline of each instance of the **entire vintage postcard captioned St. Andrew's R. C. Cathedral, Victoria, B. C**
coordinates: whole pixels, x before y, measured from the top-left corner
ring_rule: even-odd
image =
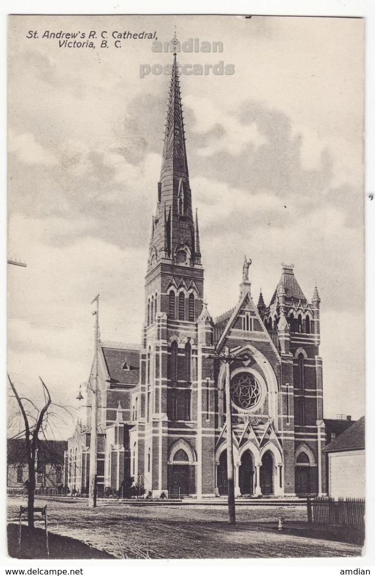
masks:
[[[363,18],[8,35],[9,556],[361,556]]]

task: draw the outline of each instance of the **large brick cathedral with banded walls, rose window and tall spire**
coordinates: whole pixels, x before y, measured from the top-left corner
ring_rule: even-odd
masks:
[[[226,367],[213,356],[228,347],[235,494],[324,494],[317,289],[308,301],[283,266],[269,305],[261,294],[255,305],[245,259],[239,301],[213,320],[201,257],[175,56],[141,344],[99,346],[98,487],[131,477],[154,498],[227,493]],[[78,492],[88,490],[91,396],[66,453]]]

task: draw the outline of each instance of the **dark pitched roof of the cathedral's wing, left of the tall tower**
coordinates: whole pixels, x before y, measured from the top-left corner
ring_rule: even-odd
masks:
[[[103,346],[103,357],[108,375],[116,384],[138,384],[140,377],[140,351],[130,348]],[[123,367],[124,366],[124,367]]]

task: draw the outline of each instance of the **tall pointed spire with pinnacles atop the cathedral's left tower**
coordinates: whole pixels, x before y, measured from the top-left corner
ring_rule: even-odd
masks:
[[[177,266],[201,266],[198,229],[193,221],[176,54],[168,94],[162,169],[148,270],[160,260],[169,260]]]

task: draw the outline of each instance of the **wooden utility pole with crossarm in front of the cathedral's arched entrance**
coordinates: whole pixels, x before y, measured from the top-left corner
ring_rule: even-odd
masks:
[[[220,360],[225,364],[225,399],[226,399],[226,424],[227,424],[227,478],[228,478],[228,516],[229,524],[236,523],[235,499],[234,499],[234,463],[233,463],[233,437],[232,437],[232,403],[230,394],[230,364],[238,358],[230,354],[226,346],[224,354],[210,355],[210,358]]]

